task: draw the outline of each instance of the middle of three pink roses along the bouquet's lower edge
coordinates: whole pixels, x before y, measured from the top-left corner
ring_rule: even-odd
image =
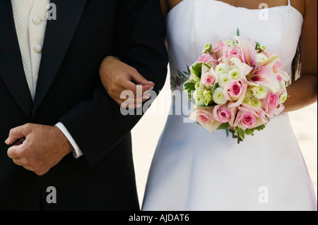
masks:
[[[234,124],[236,111],[237,108],[229,109],[227,104],[223,106],[217,105],[213,109],[213,116],[216,121],[220,123],[230,123],[230,126],[232,127]]]

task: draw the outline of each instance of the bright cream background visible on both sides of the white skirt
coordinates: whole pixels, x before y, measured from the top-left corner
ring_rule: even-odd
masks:
[[[162,106],[165,101],[167,101],[167,105],[170,105],[170,98],[166,100],[167,92],[170,89],[168,78],[169,76],[163,88],[165,92],[158,96],[151,109],[132,130],[134,165],[140,204],[143,201],[143,193],[155,147],[167,120],[168,107],[163,109]],[[156,113],[157,115],[155,115]],[[298,138],[317,196],[317,104],[290,113],[290,121]]]

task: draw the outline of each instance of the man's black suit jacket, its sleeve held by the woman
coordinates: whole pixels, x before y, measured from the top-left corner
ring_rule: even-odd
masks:
[[[139,210],[130,130],[100,83],[105,56],[135,67],[158,92],[167,74],[165,25],[158,0],[52,0],[35,100],[30,97],[10,0],[0,1],[0,209]],[[13,164],[4,140],[25,123],[61,122],[83,151],[45,176]],[[57,203],[46,201],[47,188]]]

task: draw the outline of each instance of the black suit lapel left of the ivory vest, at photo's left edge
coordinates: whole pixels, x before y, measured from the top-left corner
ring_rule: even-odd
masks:
[[[25,78],[10,0],[0,1],[0,30],[0,77],[21,109],[30,116],[33,100]]]

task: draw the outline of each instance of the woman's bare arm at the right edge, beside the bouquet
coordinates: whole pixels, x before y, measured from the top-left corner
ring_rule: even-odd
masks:
[[[317,102],[317,0],[306,0],[302,26],[301,77],[288,87],[285,111],[294,111]]]

